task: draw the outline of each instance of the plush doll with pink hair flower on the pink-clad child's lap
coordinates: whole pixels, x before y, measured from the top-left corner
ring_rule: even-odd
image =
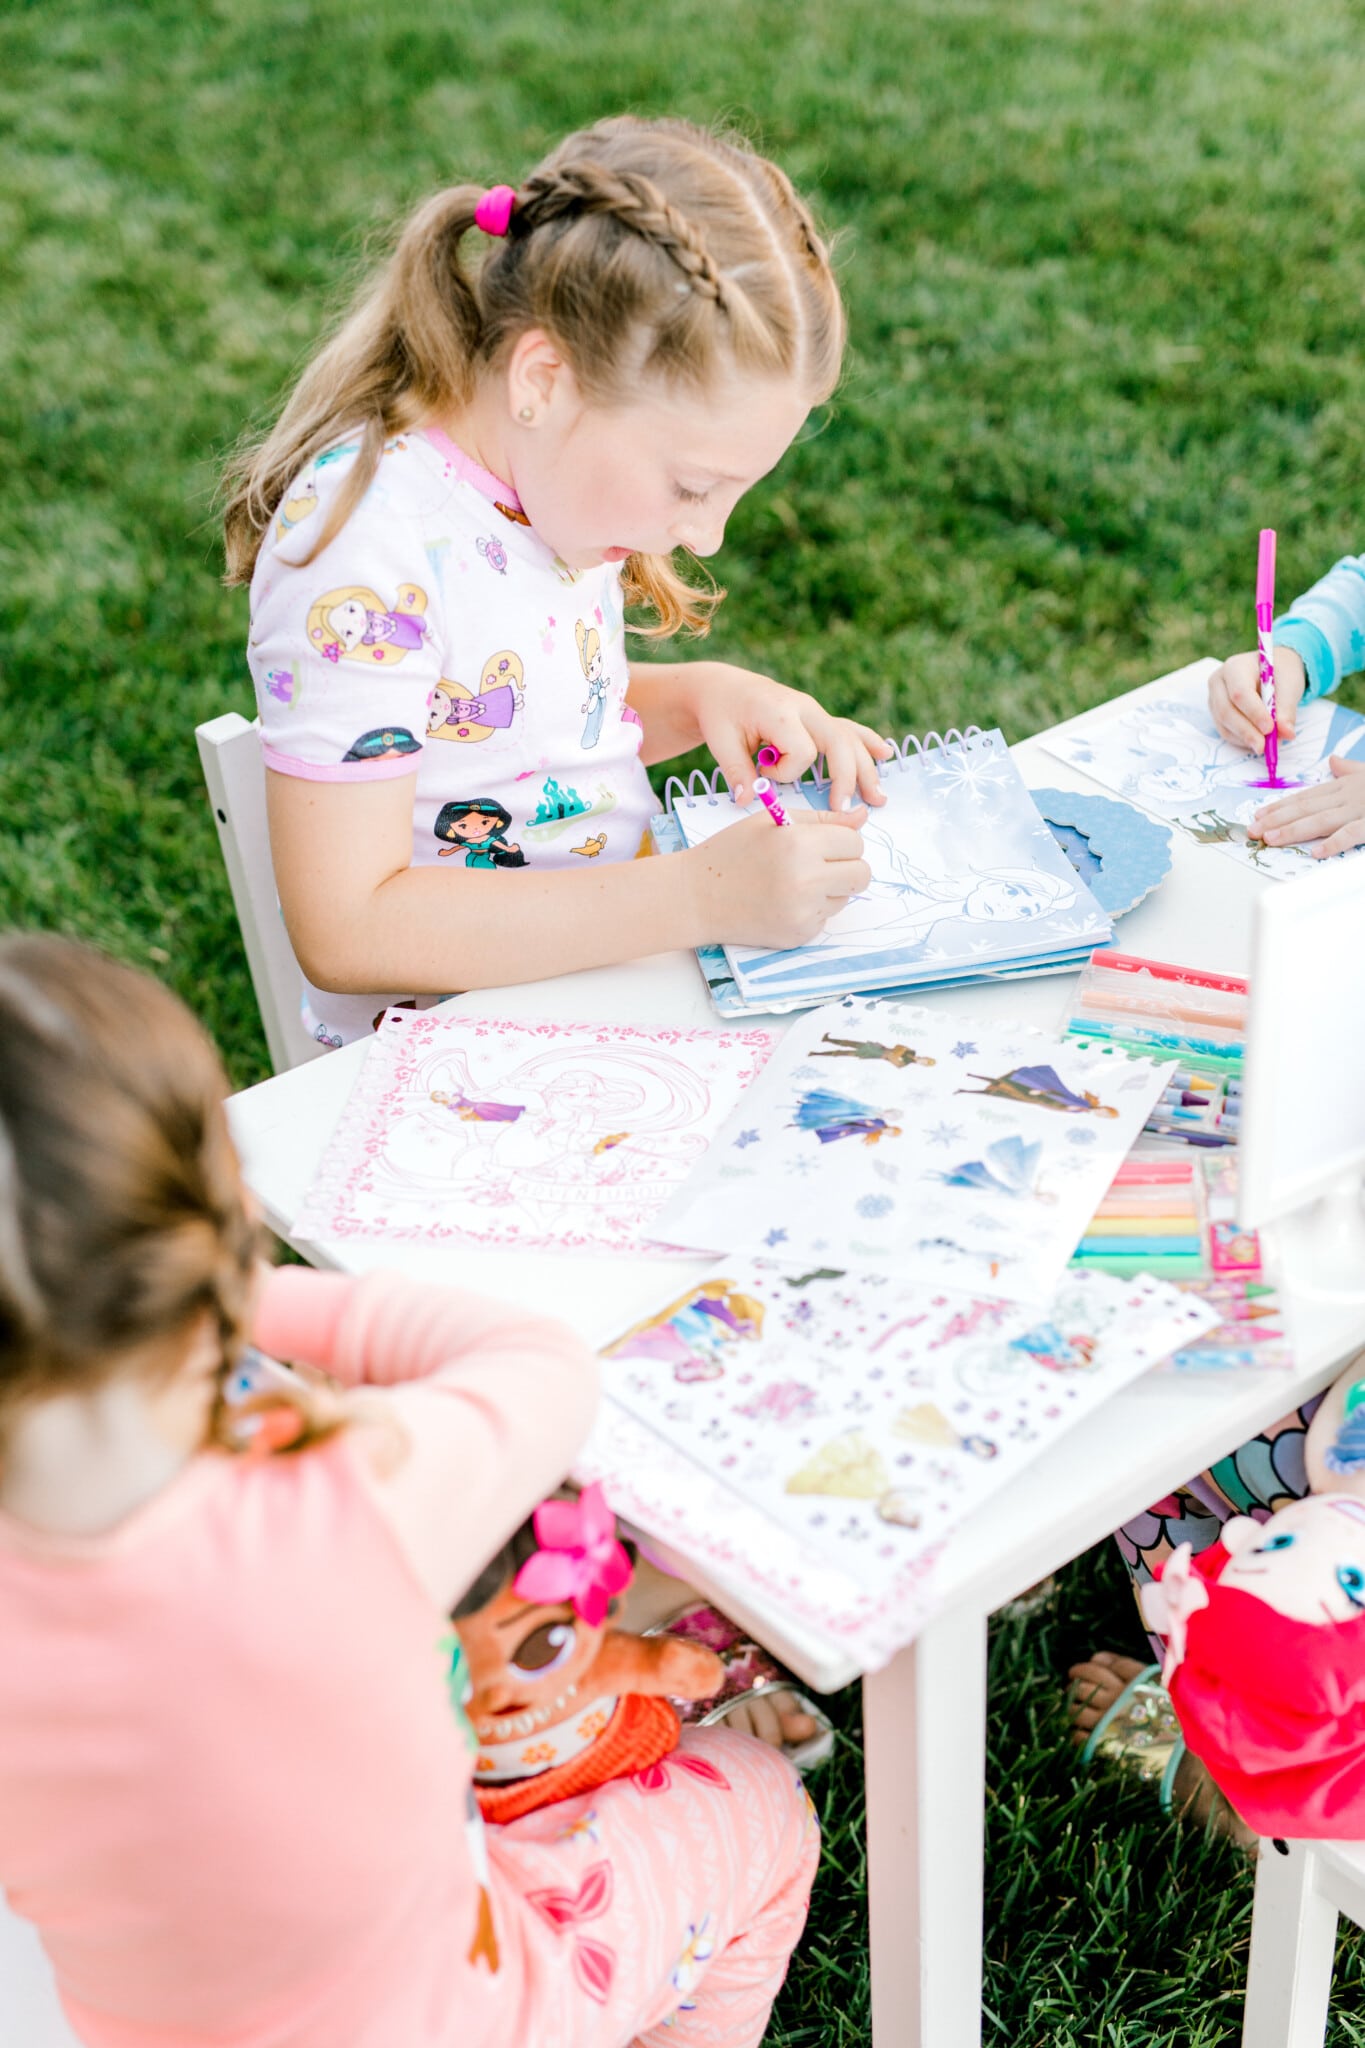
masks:
[[[628,1583],[630,1559],[591,1485],[577,1501],[542,1501],[454,1610],[485,1821],[647,1769],[677,1747],[669,1700],[720,1692],[714,1651],[608,1626]]]

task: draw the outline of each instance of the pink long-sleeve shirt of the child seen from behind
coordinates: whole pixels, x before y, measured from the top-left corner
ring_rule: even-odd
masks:
[[[256,1341],[385,1382],[411,1448],[205,1452],[98,1538],[0,1516],[0,1884],[90,2048],[454,2048],[479,1872],[444,1616],[563,1477],[596,1362],[297,1268]]]

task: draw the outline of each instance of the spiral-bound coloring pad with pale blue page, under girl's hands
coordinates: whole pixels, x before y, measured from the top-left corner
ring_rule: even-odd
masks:
[[[999,731],[909,737],[882,768],[882,786],[886,803],[864,825],[870,887],[806,946],[724,948],[745,1008],[1058,971],[1107,944],[1105,911],[1052,838]],[[665,803],[686,846],[753,809],[735,805],[720,774],[700,772],[671,778]],[[802,778],[784,803],[827,811],[829,786]],[[659,846],[669,838],[659,831]]]

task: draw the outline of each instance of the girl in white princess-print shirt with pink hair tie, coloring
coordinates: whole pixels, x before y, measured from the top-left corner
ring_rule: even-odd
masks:
[[[452,186],[407,223],[227,506],[323,1042],[397,997],[794,946],[866,887],[866,813],[843,807],[882,801],[886,743],[720,662],[628,662],[622,621],[706,627],[716,594],[673,555],[720,547],[841,350],[788,178],[681,121],[604,121],[518,188]],[[757,815],[636,864],[645,766],[698,743],[741,799],[759,745],[778,776],[825,754],[841,817]]]

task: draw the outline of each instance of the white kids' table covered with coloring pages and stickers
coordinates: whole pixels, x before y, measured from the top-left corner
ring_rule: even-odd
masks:
[[[1166,682],[1132,696],[1160,692]],[[1093,717],[1087,713],[1064,729],[1081,729]],[[1095,786],[1044,754],[1038,739],[1015,748],[1015,758],[1033,788]],[[1216,848],[1179,836],[1171,852],[1171,874],[1124,920],[1119,944],[1156,961],[1246,973],[1254,893],[1285,885],[1261,881]],[[1072,979],[1056,975],[921,999],[976,1024],[1023,1020],[1056,1028],[1072,987]],[[692,954],[657,954],[632,967],[458,1001],[483,1016],[716,1026]],[[291,1235],[362,1059],[362,1044],[346,1047],[229,1104],[248,1184],[280,1237]],[[567,1260],[403,1243],[301,1249],[348,1272],[399,1266],[542,1307],[591,1343],[620,1335],[661,1298],[706,1274],[704,1262],[692,1268],[677,1260]],[[935,1581],[941,1602],[919,1638],[884,1671],[864,1677],[876,2048],[978,2048],[980,2042],[986,1616],[1318,1393],[1351,1348],[1365,1341],[1365,1307],[1289,1303],[1289,1311],[1293,1372],[1148,1376],[1040,1456],[948,1544]],[[677,1563],[806,1683],[833,1692],[860,1675],[835,1642],[755,1606],[714,1571],[688,1559]]]

